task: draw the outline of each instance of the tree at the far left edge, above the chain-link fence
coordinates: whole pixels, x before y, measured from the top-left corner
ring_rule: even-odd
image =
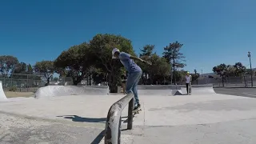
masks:
[[[0,74],[4,77],[9,77],[15,66],[18,64],[18,58],[11,55],[0,56]]]

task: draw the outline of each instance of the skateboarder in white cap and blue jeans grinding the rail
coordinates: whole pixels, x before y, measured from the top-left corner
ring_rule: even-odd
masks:
[[[122,65],[125,66],[126,70],[128,71],[128,78],[126,82],[126,93],[128,94],[130,91],[134,93],[134,110],[138,110],[140,108],[140,103],[138,99],[138,90],[137,85],[139,79],[142,77],[142,69],[134,62],[134,60],[139,60],[141,62],[146,62],[141,58],[137,58],[127,54],[125,52],[120,52],[118,48],[114,48],[112,50],[112,58],[118,58]],[[150,62],[146,62],[147,64],[151,65]]]

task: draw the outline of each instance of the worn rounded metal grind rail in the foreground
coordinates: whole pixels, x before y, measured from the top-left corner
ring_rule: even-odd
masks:
[[[114,104],[110,107],[106,119],[105,144],[120,144],[122,110],[128,103],[127,130],[131,130],[133,128],[134,94],[130,92],[125,97],[118,100],[118,102],[114,102]]]

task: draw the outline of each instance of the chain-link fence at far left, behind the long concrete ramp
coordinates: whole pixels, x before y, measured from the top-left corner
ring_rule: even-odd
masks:
[[[10,74],[1,76],[3,90],[18,92],[35,92],[38,87],[46,86],[47,80],[43,75],[37,74]],[[50,85],[72,85],[72,78],[50,78]]]

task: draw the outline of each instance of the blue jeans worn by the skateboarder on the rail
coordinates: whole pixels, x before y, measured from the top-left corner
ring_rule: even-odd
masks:
[[[138,73],[130,73],[128,74],[127,82],[126,82],[126,93],[130,93],[132,91],[134,93],[134,106],[137,106],[139,104],[138,100],[138,82],[139,79],[142,77],[142,71]]]

